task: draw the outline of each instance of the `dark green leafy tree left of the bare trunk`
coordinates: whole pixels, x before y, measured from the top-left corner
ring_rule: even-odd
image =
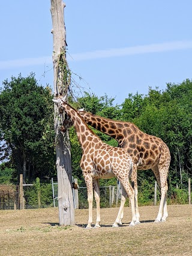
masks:
[[[23,179],[54,173],[54,129],[52,93],[39,86],[34,73],[11,77],[0,91],[1,140],[11,167]]]

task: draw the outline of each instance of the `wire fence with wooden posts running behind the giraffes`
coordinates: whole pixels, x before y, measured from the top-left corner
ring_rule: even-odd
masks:
[[[168,196],[168,204],[190,204],[191,203],[191,181],[188,180],[188,189],[179,189],[176,187],[171,195]],[[29,186],[30,185],[30,186]],[[0,210],[19,209],[22,201],[23,208],[46,208],[58,206],[58,183],[53,178],[49,183],[40,183],[40,191],[34,184],[23,184],[22,198],[20,196],[20,186],[1,185],[0,184]],[[145,188],[145,191],[143,190]],[[155,189],[154,184],[147,187],[138,187],[139,205],[155,205],[160,201],[160,189]],[[156,199],[155,199],[156,197]],[[85,186],[73,189],[74,208],[88,208],[87,190]],[[100,187],[100,207],[117,207],[121,202],[120,186]],[[127,200],[125,205],[128,205]],[[93,207],[96,207],[95,200]]]

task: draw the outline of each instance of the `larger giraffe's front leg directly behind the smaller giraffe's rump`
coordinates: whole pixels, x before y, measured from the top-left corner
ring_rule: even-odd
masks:
[[[133,172],[131,173],[131,181],[134,189],[134,204],[136,208],[136,222],[135,224],[140,224],[140,214],[139,214],[139,206],[138,206],[138,189],[137,189],[137,165],[133,164]]]

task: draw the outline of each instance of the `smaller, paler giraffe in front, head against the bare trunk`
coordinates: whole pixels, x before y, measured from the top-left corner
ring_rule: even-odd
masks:
[[[89,203],[89,220],[86,228],[91,228],[92,223],[92,201],[93,201],[93,189],[95,195],[95,201],[97,204],[97,220],[95,228],[100,228],[100,189],[98,180],[100,178],[112,178],[116,176],[124,187],[125,192],[131,201],[132,221],[131,226],[135,225],[136,213],[134,206],[134,190],[129,182],[129,177],[133,169],[133,161],[130,155],[122,148],[114,148],[106,143],[94,134],[89,129],[85,120],[78,114],[77,110],[68,105],[66,98],[53,99],[58,107],[59,111],[65,113],[70,117],[73,122],[74,128],[76,129],[77,137],[82,148],[82,160],[80,161],[80,167],[83,171],[83,178],[85,179],[87,192],[88,192],[88,203]],[[64,121],[65,125],[68,124]],[[123,208],[120,207],[118,216],[113,226],[117,226],[120,222],[121,212]]]

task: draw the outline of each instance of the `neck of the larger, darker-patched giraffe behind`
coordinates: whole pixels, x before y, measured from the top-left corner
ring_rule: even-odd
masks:
[[[133,123],[125,123],[121,121],[107,119],[101,116],[96,116],[95,114],[86,111],[78,111],[78,113],[81,117],[83,117],[88,125],[91,125],[95,129],[113,137],[119,142],[119,144],[121,144],[124,137],[127,136],[127,134],[125,134],[127,133],[127,129],[131,125],[133,125]]]

